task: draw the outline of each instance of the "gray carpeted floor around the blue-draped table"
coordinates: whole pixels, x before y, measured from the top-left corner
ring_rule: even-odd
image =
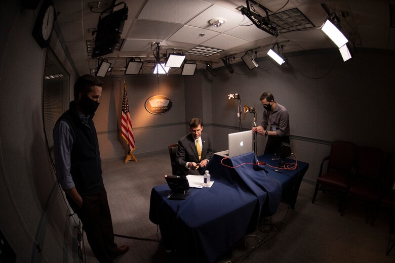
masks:
[[[152,187],[165,184],[164,174],[171,174],[168,152],[136,158],[137,162],[127,164],[121,159],[103,161],[114,233],[125,236],[116,236],[115,242],[130,246],[115,262],[178,262],[176,255],[160,246],[160,232],[148,218]],[[259,229],[217,262],[395,262],[395,248],[385,255],[390,237],[388,214],[380,212],[370,226],[365,223],[362,204],[350,202],[340,216],[336,196],[320,191],[311,204],[313,191],[314,186],[302,182],[295,210],[281,203],[277,213],[265,218]],[[97,262],[84,240],[86,262]]]

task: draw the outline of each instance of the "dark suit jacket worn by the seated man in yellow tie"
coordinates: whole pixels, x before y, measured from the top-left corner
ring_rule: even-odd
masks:
[[[196,149],[195,141],[191,134],[187,134],[178,141],[178,148],[176,153],[176,164],[188,173],[185,168],[187,162],[200,163],[201,160],[207,159],[210,161],[213,156],[213,149],[211,148],[210,137],[206,133],[201,134],[202,138],[202,156],[199,160],[198,150]],[[198,168],[200,174],[205,172],[206,168]]]

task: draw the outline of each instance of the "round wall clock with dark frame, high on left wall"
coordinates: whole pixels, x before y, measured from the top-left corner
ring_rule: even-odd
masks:
[[[52,0],[45,0],[38,12],[32,35],[41,48],[47,48],[54,29],[56,14]]]

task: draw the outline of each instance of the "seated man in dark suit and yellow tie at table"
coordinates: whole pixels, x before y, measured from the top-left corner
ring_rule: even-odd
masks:
[[[190,133],[178,141],[176,165],[183,168],[185,175],[200,175],[213,156],[210,137],[203,133],[203,122],[193,118],[189,122]]]

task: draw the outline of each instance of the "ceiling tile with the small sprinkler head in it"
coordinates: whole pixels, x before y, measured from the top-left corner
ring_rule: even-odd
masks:
[[[205,34],[200,36],[200,34]],[[194,26],[183,26],[177,32],[175,32],[171,37],[168,38],[170,41],[193,43],[200,45],[204,41],[218,35],[218,32],[211,31],[208,29],[203,29]]]

